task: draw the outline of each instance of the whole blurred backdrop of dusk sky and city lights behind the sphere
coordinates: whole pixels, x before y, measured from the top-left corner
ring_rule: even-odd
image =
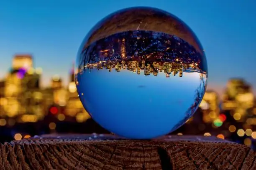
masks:
[[[172,134],[217,136],[256,149],[255,5],[254,0],[0,2],[0,143],[46,133],[108,133],[77,97],[78,47],[106,15],[151,6],[187,23],[208,62],[200,107]]]

